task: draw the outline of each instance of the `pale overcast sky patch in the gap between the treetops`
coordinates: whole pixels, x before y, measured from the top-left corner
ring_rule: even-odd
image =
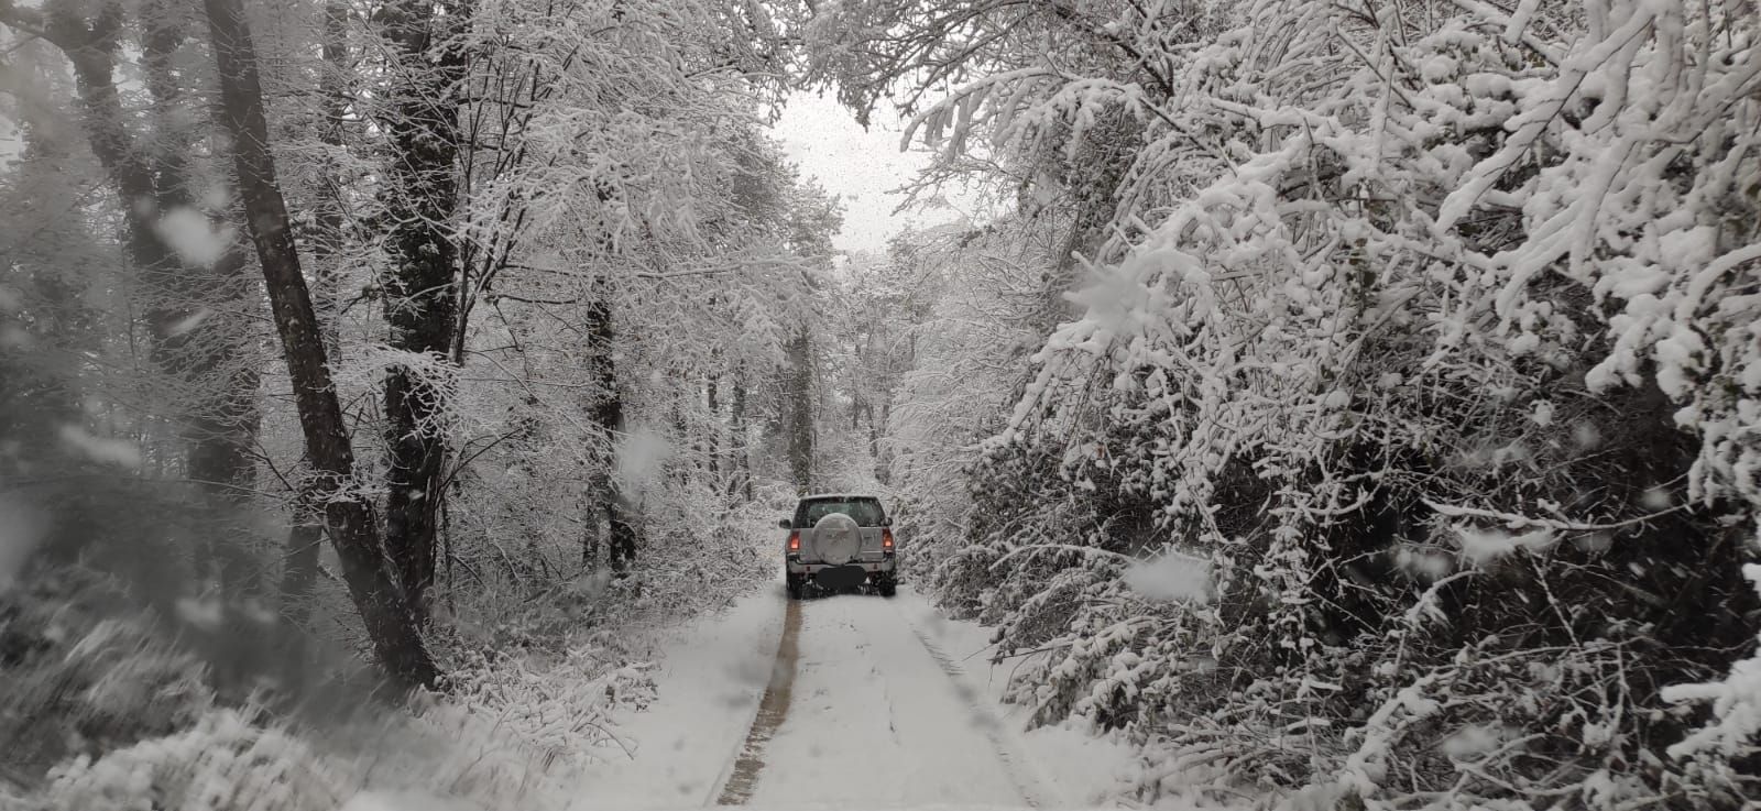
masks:
[[[796,93],[773,130],[803,174],[844,199],[844,232],[833,239],[844,250],[880,252],[889,236],[914,222],[935,225],[956,216],[947,209],[893,215],[900,195],[888,192],[907,183],[930,158],[921,151],[898,151],[902,123],[893,114],[877,111],[873,120],[863,132],[856,116],[831,95]]]

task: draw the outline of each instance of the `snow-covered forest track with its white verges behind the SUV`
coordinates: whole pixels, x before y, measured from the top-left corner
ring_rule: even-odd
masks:
[[[634,755],[576,807],[1087,807],[1116,788],[1129,753],[1023,734],[983,649],[909,589],[764,588],[664,644],[655,705],[618,727]]]

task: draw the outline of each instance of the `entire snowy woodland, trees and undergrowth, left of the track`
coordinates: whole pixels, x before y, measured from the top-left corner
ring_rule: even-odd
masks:
[[[771,14],[0,2],[0,799],[627,756],[780,482],[872,470]]]

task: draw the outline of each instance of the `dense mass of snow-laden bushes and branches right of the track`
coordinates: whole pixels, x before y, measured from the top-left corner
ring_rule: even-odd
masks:
[[[919,116],[1124,165],[937,538],[1018,698],[1294,807],[1750,799],[1752,7],[1090,14]]]

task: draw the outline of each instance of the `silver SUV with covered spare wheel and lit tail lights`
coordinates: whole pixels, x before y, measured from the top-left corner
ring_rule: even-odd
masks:
[[[828,493],[805,496],[794,517],[777,526],[789,530],[789,598],[808,591],[854,591],[872,586],[880,596],[898,589],[898,551],[893,519],[875,496]]]

